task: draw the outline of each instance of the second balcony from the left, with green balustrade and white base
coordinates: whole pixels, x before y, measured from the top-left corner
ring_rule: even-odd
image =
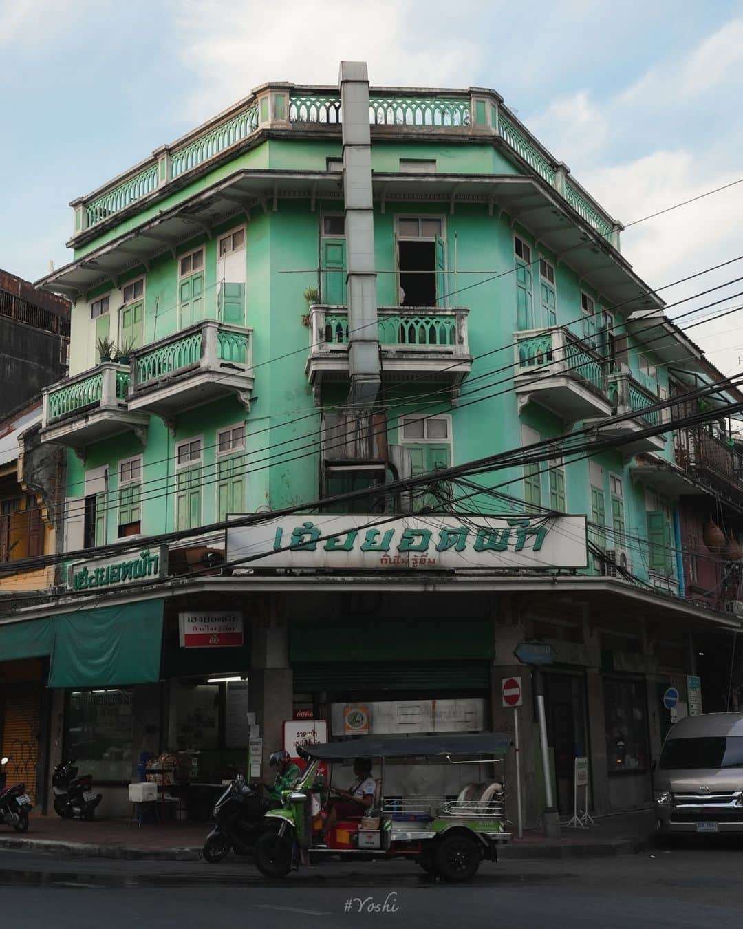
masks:
[[[160,416],[172,427],[176,414],[237,395],[250,411],[253,330],[204,320],[131,355],[130,411]]]

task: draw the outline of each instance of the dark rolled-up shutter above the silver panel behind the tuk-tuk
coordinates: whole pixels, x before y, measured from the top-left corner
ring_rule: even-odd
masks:
[[[489,661],[297,662],[294,692],[317,690],[486,690]]]

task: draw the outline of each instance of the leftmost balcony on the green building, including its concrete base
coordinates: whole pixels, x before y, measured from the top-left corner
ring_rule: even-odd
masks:
[[[106,361],[44,388],[41,440],[68,445],[83,457],[85,446],[133,431],[144,442],[149,416],[126,405],[129,368]]]

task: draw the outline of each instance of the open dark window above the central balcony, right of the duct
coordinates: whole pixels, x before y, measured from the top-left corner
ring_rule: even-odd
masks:
[[[398,216],[401,307],[444,305],[447,287],[443,223],[437,216]]]

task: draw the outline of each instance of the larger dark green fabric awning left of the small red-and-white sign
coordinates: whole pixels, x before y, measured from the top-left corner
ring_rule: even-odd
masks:
[[[163,600],[54,617],[49,687],[113,687],[160,679]]]

